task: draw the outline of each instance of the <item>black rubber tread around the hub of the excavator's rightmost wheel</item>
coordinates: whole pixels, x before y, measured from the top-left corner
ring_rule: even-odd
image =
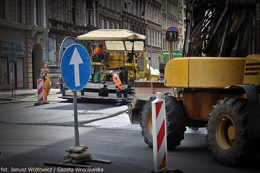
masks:
[[[234,127],[238,128],[236,133],[237,143],[233,143],[232,150],[220,150],[218,144],[215,140],[215,124],[216,117],[224,115],[228,110],[233,111],[235,118],[232,119]],[[218,114],[218,115],[217,115]],[[230,117],[232,117],[230,115]],[[213,126],[213,127],[211,127]],[[247,99],[244,98],[225,98],[224,100],[218,100],[217,105],[212,106],[212,111],[208,114],[208,124],[206,125],[208,134],[206,135],[206,140],[208,141],[208,150],[212,153],[212,158],[218,161],[218,164],[224,164],[225,166],[233,166],[236,164],[245,163],[253,158],[258,157],[258,152],[256,151],[256,145],[254,144],[253,138],[247,136]],[[232,153],[233,152],[233,153]],[[255,154],[254,154],[255,153]],[[230,157],[223,157],[225,155],[230,155]]]

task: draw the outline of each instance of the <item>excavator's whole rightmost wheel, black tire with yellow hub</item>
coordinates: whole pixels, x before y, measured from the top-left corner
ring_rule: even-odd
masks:
[[[258,157],[257,138],[247,136],[247,99],[218,100],[208,114],[208,150],[218,164],[232,166]]]

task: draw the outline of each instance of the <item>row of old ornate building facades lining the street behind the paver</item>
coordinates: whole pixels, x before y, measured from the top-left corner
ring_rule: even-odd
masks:
[[[0,0],[0,84],[14,83],[16,89],[37,88],[40,70],[47,67],[55,86],[60,76],[56,60],[61,56],[59,46],[64,38],[76,38],[99,28],[128,29],[145,35],[146,58],[151,57],[150,65],[159,68],[161,51],[168,50],[165,41],[168,27],[179,28],[179,41],[174,49],[182,47],[182,4],[182,0],[48,0],[47,9],[46,1],[42,0]],[[43,62],[47,10],[48,36],[56,52],[48,63]],[[95,44],[78,42],[86,48]],[[16,61],[10,55],[12,43],[17,44],[13,53],[17,54]]]

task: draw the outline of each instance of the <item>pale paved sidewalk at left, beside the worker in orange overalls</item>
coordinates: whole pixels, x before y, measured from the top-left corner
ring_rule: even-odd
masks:
[[[48,101],[65,101],[60,97],[61,91],[59,88],[52,88],[50,90],[49,96],[47,97]],[[37,89],[23,89],[23,90],[12,90],[0,91],[0,104],[10,103],[10,102],[19,102],[19,101],[38,101],[38,92]]]

